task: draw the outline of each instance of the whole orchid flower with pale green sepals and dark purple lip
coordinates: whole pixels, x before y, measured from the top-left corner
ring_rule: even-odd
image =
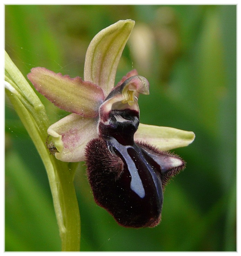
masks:
[[[71,112],[47,132],[50,151],[64,162],[86,161],[95,202],[124,227],[160,222],[164,186],[185,167],[167,152],[187,146],[194,133],[139,124],[139,94],[149,83],[136,70],[114,87],[117,66],[135,25],[119,20],[101,30],[85,57],[84,79],[32,68],[28,79],[57,107]]]

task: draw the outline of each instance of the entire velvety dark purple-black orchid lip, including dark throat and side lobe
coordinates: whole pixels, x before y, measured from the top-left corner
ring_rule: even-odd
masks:
[[[86,146],[87,175],[95,202],[121,226],[155,227],[161,218],[164,186],[185,162],[135,142],[138,126],[137,110],[128,106],[111,110],[108,122],[99,122],[100,136]]]

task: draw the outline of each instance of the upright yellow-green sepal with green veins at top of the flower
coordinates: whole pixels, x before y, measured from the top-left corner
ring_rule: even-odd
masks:
[[[117,66],[134,25],[133,20],[117,21],[101,30],[87,49],[84,80],[99,85],[105,97],[114,87]]]

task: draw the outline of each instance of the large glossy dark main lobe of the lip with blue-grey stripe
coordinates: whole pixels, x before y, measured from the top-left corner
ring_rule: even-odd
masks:
[[[113,137],[94,139],[87,148],[86,164],[96,203],[122,226],[155,226],[163,201],[161,180],[141,149],[136,144],[123,146]]]

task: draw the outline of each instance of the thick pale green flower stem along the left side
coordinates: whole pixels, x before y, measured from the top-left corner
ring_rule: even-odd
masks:
[[[73,184],[77,164],[58,161],[49,154],[45,145],[49,126],[45,108],[7,53],[5,60],[6,94],[33,140],[46,168],[62,251],[79,251],[80,212]]]

